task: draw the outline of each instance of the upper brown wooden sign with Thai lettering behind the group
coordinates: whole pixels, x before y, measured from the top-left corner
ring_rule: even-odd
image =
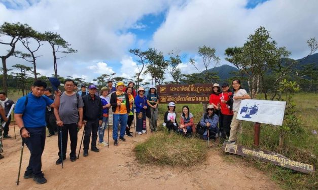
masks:
[[[213,84],[168,84],[158,85],[158,93],[160,94],[211,94]]]

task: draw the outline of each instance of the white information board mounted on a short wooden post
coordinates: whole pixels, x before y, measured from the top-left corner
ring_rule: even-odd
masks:
[[[286,102],[269,100],[242,100],[236,119],[281,125]]]

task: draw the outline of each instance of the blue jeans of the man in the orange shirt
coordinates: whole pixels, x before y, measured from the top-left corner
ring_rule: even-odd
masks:
[[[124,137],[126,131],[126,125],[128,120],[128,114],[113,114],[113,139],[118,139],[118,126],[120,123],[120,137]]]

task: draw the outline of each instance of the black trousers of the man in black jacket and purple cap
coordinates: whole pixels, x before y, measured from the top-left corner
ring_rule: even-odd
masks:
[[[84,128],[85,131],[84,131],[84,140],[83,140],[84,151],[88,151],[91,135],[92,135],[91,148],[96,147],[97,132],[99,127],[98,122],[99,122],[98,119],[86,122],[86,126]]]

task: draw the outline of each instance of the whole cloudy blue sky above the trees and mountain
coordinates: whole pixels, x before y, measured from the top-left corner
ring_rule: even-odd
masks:
[[[166,58],[171,51],[179,52],[184,74],[198,72],[190,57],[202,68],[197,52],[203,45],[216,49],[219,65],[231,65],[224,59],[225,49],[242,46],[260,26],[278,46],[286,46],[291,58],[305,57],[306,41],[318,39],[317,7],[316,0],[0,0],[0,25],[20,22],[39,32],[57,32],[78,51],[57,60],[58,74],[93,82],[111,73],[131,79],[138,67],[129,49],[136,48],[155,48]],[[21,44],[16,49],[25,51]],[[7,50],[0,44],[0,55]],[[51,76],[49,44],[43,42],[37,55],[37,71]],[[7,59],[9,68],[15,64],[32,66],[19,58]],[[148,75],[143,78],[150,80]],[[172,80],[169,74],[165,78]]]

